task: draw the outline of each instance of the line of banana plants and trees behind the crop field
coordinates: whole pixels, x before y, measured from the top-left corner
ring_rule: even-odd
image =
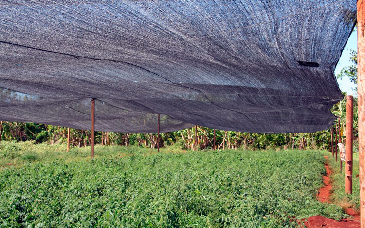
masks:
[[[332,108],[332,113],[338,117],[342,140],[345,139],[346,100],[340,101]],[[354,98],[354,142],[355,152],[358,141],[357,98]],[[333,140],[336,130],[333,128]],[[70,145],[82,147],[91,144],[91,132],[71,129]],[[175,146],[180,149],[325,149],[331,150],[331,130],[315,133],[245,133],[216,130],[216,145],[214,145],[214,129],[197,126],[197,144],[195,144],[195,128],[188,128],[171,133],[160,134],[160,147]],[[38,123],[3,122],[2,140],[26,141],[50,144],[66,143],[67,128]],[[137,145],[146,148],[157,148],[157,134],[130,134],[115,132],[95,132],[95,143],[101,145]],[[335,142],[333,142],[335,143]]]

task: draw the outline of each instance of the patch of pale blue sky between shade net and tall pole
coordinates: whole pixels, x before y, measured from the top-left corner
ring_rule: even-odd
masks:
[[[337,63],[336,69],[335,69],[335,75],[337,76],[340,71],[347,66],[353,65],[353,63],[350,60],[350,51],[356,50],[357,51],[357,31],[356,29],[352,32],[350,38],[347,40],[346,47],[344,51],[342,52],[342,55],[340,57],[340,60]],[[347,95],[353,95],[357,96],[356,91],[354,90],[355,84],[350,81],[348,78],[342,78],[337,79],[337,83],[340,87],[340,89],[343,92],[346,92]]]

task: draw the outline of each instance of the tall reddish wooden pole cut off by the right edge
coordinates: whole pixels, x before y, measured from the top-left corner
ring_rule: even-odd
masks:
[[[357,93],[359,109],[360,217],[365,228],[365,0],[357,1]]]

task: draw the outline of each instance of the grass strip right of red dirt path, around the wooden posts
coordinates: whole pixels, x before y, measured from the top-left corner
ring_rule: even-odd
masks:
[[[359,153],[353,153],[352,167],[352,194],[345,193],[345,162],[340,172],[340,155],[332,157],[330,152],[324,152],[329,157],[329,165],[332,168],[332,195],[331,200],[334,204],[342,206],[344,209],[354,207],[356,211],[360,210],[360,182],[359,182]]]

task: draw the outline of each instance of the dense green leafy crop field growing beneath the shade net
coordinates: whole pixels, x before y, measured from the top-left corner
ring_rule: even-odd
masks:
[[[170,151],[2,142],[0,227],[282,228],[316,200],[321,151]]]

